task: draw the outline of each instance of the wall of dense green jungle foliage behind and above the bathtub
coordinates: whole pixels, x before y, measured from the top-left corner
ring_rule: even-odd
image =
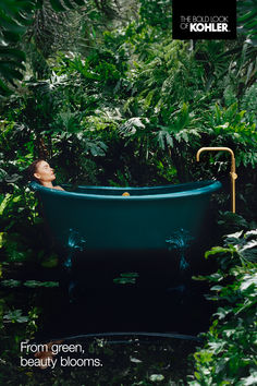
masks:
[[[3,181],[38,156],[50,159],[62,180],[71,182],[187,181],[197,173],[195,152],[206,144],[231,146],[242,174],[253,176],[256,50],[243,35],[235,41],[197,41],[192,48],[172,40],[169,1],[142,1],[139,17],[109,19],[108,32],[105,15],[91,3],[84,11],[90,31],[85,38],[77,10],[71,12],[81,25],[82,43],[76,40],[75,49],[66,44],[64,50],[47,16],[51,29],[35,15],[37,29],[30,26],[25,35],[25,81],[2,100]],[[56,29],[61,25],[73,36],[60,15]],[[48,52],[46,29],[50,41],[59,41]],[[224,169],[225,156],[215,160]]]

